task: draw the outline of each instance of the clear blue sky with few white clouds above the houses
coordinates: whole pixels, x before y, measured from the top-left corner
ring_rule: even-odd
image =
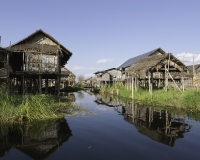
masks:
[[[200,0],[0,0],[1,45],[42,29],[73,55],[66,67],[93,76],[161,47],[200,63]]]

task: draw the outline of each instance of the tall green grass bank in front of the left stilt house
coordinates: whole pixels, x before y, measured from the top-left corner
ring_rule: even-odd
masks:
[[[57,119],[70,115],[71,109],[81,108],[52,95],[20,96],[0,92],[1,122]]]

